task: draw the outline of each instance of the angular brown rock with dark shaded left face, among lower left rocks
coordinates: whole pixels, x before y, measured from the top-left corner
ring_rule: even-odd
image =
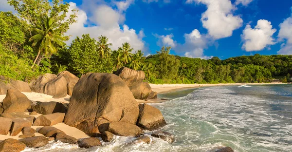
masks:
[[[29,120],[24,120],[21,118],[13,119],[10,135],[15,136],[18,133],[20,133],[24,127],[31,127],[31,126],[32,126],[32,122]]]

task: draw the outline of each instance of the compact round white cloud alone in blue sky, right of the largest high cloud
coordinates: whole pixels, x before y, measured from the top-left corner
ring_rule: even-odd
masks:
[[[275,32],[276,29],[273,29],[271,22],[265,19],[258,20],[254,29],[251,25],[246,25],[241,35],[244,42],[242,49],[248,52],[260,51],[269,45],[274,45],[275,40],[272,36]]]

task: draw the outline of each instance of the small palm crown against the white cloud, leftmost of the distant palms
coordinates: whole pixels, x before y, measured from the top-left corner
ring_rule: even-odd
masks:
[[[108,43],[109,38],[101,36],[101,37],[98,37],[98,39],[99,41],[97,42],[97,46],[98,46],[97,51],[99,52],[100,56],[102,58],[109,57],[110,52],[111,52],[109,46],[112,46],[111,43]]]

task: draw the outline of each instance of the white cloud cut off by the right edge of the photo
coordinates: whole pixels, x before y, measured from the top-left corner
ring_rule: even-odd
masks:
[[[278,54],[281,55],[292,55],[292,16],[285,19],[280,24],[280,31],[278,34],[279,41],[287,41],[283,43]]]

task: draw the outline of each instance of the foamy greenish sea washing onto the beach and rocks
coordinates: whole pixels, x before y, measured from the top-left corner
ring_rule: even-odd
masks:
[[[127,145],[132,137],[115,136],[112,143],[90,149],[62,142],[24,152],[292,152],[292,85],[242,85],[187,89],[160,94],[168,101],[150,104],[161,110],[175,135],[169,144],[151,137],[152,144]]]

